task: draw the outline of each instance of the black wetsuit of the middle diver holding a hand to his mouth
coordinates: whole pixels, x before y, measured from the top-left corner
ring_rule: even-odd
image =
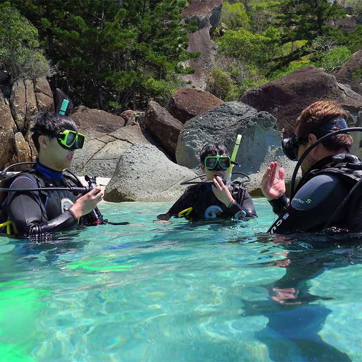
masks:
[[[168,220],[170,217],[177,216],[181,211],[188,208],[192,208],[192,211],[187,215],[187,218],[192,220],[256,217],[254,204],[244,185],[233,183],[231,190],[236,204],[228,208],[217,199],[212,191],[211,184],[205,183],[205,185],[198,184],[190,186],[166,214],[158,215],[157,218]]]

